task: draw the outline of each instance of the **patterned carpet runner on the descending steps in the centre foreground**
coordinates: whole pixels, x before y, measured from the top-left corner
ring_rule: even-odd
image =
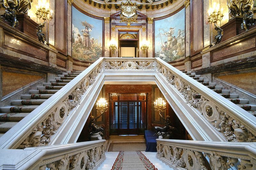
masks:
[[[157,170],[141,151],[120,151],[112,170]]]

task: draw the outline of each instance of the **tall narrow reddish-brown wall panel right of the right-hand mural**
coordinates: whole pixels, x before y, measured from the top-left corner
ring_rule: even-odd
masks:
[[[203,1],[191,1],[191,55],[200,52],[204,43],[204,26],[203,26]]]

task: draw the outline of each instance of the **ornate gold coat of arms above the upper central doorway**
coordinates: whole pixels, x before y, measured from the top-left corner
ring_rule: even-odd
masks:
[[[133,22],[138,22],[138,14],[137,14],[137,3],[132,3],[131,0],[127,0],[126,3],[121,3],[121,14],[120,14],[120,22],[127,23],[127,26],[130,26]]]

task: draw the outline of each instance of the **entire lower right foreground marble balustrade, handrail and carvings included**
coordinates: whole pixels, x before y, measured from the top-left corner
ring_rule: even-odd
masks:
[[[156,156],[177,169],[256,169],[256,144],[156,139]]]

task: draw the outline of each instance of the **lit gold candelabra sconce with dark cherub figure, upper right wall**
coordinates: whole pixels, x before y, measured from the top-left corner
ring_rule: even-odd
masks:
[[[214,45],[217,45],[218,43],[220,43],[221,38],[222,38],[222,34],[221,32],[223,31],[223,29],[221,29],[219,26],[217,26],[217,21],[221,21],[223,18],[223,8],[220,9],[220,4],[216,5],[216,3],[213,4],[213,7],[209,9],[208,14],[209,14],[209,18],[208,18],[208,22],[210,24],[214,23],[214,29],[217,31],[217,35],[214,36],[215,39],[215,43]]]

